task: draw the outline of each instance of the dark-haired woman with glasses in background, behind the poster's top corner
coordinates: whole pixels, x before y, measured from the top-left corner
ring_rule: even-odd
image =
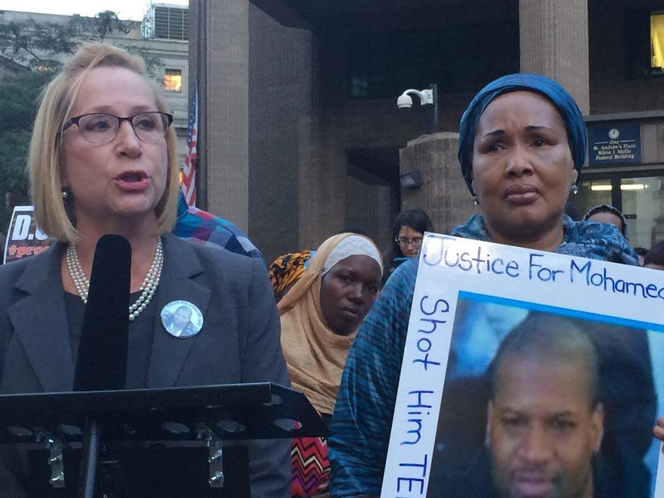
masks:
[[[420,208],[411,208],[399,213],[392,226],[392,243],[385,253],[385,272],[383,282],[391,273],[420,252],[424,232],[433,232],[434,226],[427,213]]]

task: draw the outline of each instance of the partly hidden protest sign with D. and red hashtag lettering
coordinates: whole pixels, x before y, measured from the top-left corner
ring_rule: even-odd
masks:
[[[46,250],[53,239],[39,230],[33,206],[16,206],[7,230],[3,264],[33,256]]]

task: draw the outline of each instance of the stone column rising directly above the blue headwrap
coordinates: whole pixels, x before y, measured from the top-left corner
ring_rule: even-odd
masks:
[[[556,80],[590,113],[588,0],[519,0],[521,71]]]

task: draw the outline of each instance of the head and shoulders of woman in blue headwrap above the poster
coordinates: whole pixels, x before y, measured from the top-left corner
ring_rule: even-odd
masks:
[[[457,237],[638,264],[605,225],[564,216],[586,158],[586,127],[572,96],[540,75],[507,75],[485,86],[459,125],[459,163],[482,214]]]

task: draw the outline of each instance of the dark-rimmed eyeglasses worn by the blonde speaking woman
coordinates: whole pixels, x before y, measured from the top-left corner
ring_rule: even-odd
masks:
[[[82,114],[63,124],[62,131],[75,124],[85,140],[104,144],[116,139],[122,121],[129,121],[139,140],[157,142],[166,136],[166,131],[173,122],[173,115],[157,111],[135,114],[128,118],[107,113]]]

